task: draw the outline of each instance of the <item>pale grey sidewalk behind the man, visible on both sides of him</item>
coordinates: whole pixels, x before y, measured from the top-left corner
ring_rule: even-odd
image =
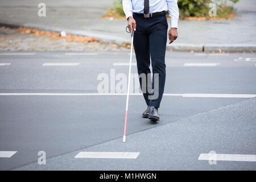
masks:
[[[125,20],[100,19],[113,0],[46,0],[46,17],[38,16],[39,1],[3,0],[0,25],[11,24],[40,30],[66,31],[68,34],[97,38],[106,43],[129,43]],[[256,51],[256,2],[243,0],[235,6],[237,16],[226,21],[179,22],[179,38],[168,49],[185,51]]]

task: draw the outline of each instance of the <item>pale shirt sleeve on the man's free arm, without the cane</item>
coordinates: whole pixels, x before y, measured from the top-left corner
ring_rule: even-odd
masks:
[[[177,0],[166,0],[169,16],[171,19],[171,28],[177,28],[179,20],[179,7],[177,6]]]

